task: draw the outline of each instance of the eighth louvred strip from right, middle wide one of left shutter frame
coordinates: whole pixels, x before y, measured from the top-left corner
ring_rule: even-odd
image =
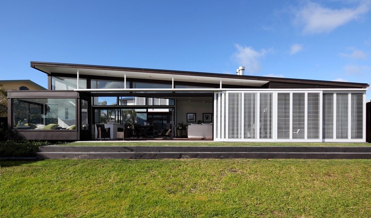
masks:
[[[257,139],[257,93],[244,93],[243,104],[243,138]]]

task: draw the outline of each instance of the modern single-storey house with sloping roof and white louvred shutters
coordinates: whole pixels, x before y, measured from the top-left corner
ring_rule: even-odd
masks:
[[[47,75],[48,90],[8,92],[10,138],[92,140],[95,124],[126,123],[155,124],[174,137],[183,122],[192,124],[188,137],[214,141],[366,140],[366,83],[249,76],[243,67],[236,75],[36,61],[31,67]]]

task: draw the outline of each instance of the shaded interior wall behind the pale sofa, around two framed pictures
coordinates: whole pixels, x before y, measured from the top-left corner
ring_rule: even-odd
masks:
[[[213,97],[183,97],[175,101],[177,126],[182,121],[184,124],[187,123],[187,113],[196,113],[196,122],[194,123],[197,123],[197,120],[203,120],[203,113],[213,113]]]

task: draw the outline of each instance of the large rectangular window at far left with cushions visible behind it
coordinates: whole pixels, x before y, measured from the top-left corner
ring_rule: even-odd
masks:
[[[12,110],[14,129],[76,129],[75,98],[17,98]]]

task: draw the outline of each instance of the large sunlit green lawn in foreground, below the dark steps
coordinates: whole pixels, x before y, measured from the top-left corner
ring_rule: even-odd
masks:
[[[371,160],[0,162],[0,217],[371,217]]]

